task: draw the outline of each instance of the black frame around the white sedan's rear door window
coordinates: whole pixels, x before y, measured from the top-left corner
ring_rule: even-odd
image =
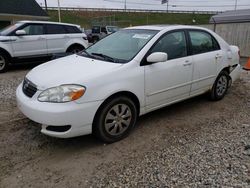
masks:
[[[186,29],[186,32],[187,32],[187,38],[188,38],[188,43],[189,43],[189,48],[190,48],[190,55],[198,55],[198,54],[193,54],[193,50],[192,50],[192,42],[191,42],[191,36],[190,36],[190,32],[192,31],[196,31],[196,32],[201,32],[201,33],[206,33],[207,35],[209,35],[212,39],[212,43],[213,43],[213,48],[215,48],[215,45],[218,47],[216,47],[216,50],[220,50],[221,47],[220,47],[220,44],[218,43],[218,41],[216,40],[216,38],[209,32],[205,31],[205,30],[202,30],[202,29]],[[216,51],[216,50],[213,50],[213,51]],[[210,52],[213,52],[213,51],[210,51]],[[203,52],[203,53],[199,53],[199,54],[204,54],[204,53],[208,53],[208,52]]]

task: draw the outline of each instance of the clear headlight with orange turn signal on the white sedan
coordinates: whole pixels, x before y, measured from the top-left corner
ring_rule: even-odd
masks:
[[[63,103],[79,99],[86,88],[80,85],[61,85],[49,88],[38,96],[40,102]]]

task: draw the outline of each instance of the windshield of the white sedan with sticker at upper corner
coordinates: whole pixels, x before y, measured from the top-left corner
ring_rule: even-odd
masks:
[[[90,46],[82,54],[86,55],[87,53],[98,56],[107,61],[113,59],[113,62],[116,63],[126,63],[130,61],[156,33],[158,33],[158,31],[146,29],[120,30]]]

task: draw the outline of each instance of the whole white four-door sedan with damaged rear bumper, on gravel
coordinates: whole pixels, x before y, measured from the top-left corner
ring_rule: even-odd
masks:
[[[34,68],[16,96],[46,135],[111,143],[150,111],[203,93],[222,99],[239,71],[238,47],[210,30],[138,26]]]

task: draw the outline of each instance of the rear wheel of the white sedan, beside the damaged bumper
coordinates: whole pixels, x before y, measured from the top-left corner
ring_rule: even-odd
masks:
[[[227,71],[222,71],[216,78],[213,88],[210,92],[210,99],[213,101],[218,101],[224,98],[227,93],[229,85],[229,74]]]

